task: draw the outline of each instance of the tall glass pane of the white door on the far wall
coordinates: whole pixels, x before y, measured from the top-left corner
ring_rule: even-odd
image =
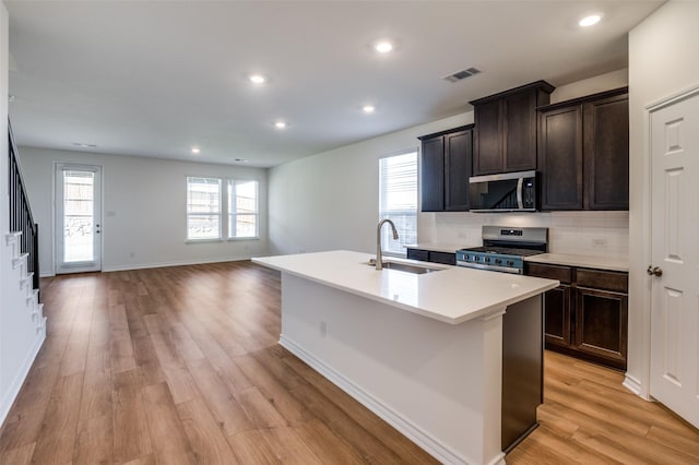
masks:
[[[95,174],[63,171],[63,262],[95,259]]]

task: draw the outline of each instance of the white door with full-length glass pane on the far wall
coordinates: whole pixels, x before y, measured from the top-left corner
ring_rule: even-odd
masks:
[[[102,168],[56,165],[56,273],[102,270]]]

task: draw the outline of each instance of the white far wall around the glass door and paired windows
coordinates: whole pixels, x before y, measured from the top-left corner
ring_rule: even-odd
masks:
[[[20,147],[34,219],[39,269],[54,272],[55,162],[103,167],[103,270],[247,259],[266,253],[266,169]],[[260,182],[260,239],[186,243],[186,177]]]

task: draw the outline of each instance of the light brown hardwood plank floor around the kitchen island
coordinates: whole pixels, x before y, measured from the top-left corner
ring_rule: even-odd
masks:
[[[249,262],[46,279],[48,337],[0,464],[429,464],[277,344],[279,273]],[[619,372],[546,354],[541,427],[508,464],[699,463],[699,432]]]

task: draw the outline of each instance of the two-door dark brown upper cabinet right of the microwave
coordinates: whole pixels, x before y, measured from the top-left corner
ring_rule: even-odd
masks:
[[[542,210],[628,210],[627,87],[540,108]]]

